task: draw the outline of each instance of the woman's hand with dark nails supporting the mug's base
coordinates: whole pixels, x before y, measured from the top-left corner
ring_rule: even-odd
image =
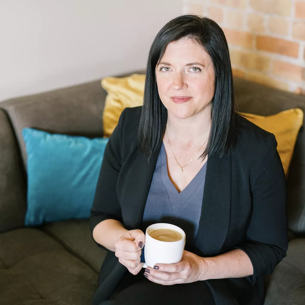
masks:
[[[144,275],[151,282],[161,285],[174,285],[200,281],[207,269],[208,266],[203,257],[184,250],[181,262],[156,264],[154,269],[147,267]]]

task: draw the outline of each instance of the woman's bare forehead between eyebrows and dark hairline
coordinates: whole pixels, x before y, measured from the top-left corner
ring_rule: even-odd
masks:
[[[165,49],[162,59],[173,58],[181,56],[186,59],[207,59],[210,56],[205,51],[202,45],[200,45],[195,39],[192,38],[181,38],[177,41],[170,42]]]

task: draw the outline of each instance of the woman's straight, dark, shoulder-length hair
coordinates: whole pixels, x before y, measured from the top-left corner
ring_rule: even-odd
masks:
[[[156,66],[167,44],[189,37],[210,55],[215,71],[215,93],[212,103],[212,125],[206,149],[201,155],[230,153],[237,138],[237,114],[230,54],[221,27],[207,17],[182,15],[170,20],[156,35],[149,50],[146,66],[144,101],[138,128],[138,149],[148,161],[161,143],[167,123],[167,109],[160,100]]]

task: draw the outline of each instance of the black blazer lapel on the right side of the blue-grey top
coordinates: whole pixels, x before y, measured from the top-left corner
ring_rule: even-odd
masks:
[[[211,156],[206,164],[206,180],[195,253],[216,255],[221,251],[230,223],[231,156]]]

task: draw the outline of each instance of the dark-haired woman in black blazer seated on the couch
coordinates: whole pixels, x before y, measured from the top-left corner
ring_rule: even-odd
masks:
[[[263,277],[287,250],[276,146],[235,112],[217,23],[168,22],[150,48],[143,106],[124,109],[105,150],[90,226],[109,251],[93,304],[263,304]],[[184,255],[144,272],[144,232],[157,222],[184,229]]]

